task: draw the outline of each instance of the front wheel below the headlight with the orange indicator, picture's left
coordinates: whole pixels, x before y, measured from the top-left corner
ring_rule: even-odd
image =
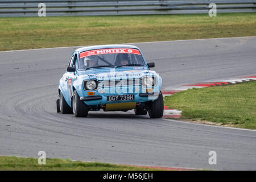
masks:
[[[84,101],[80,100],[76,90],[72,96],[72,110],[75,117],[87,117],[89,111]]]

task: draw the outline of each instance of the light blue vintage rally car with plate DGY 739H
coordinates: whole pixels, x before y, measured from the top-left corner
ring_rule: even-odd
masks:
[[[87,117],[88,111],[127,111],[163,116],[162,78],[135,46],[105,45],[76,49],[60,78],[57,112]]]

